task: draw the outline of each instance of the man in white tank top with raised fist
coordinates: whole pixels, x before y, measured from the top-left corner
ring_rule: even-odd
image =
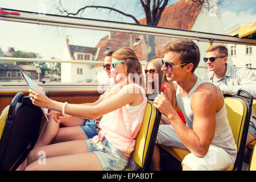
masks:
[[[177,82],[177,103],[184,114],[187,126],[161,93],[154,106],[171,122],[160,125],[157,144],[185,148],[191,151],[185,156],[183,170],[223,170],[231,167],[237,154],[232,130],[221,92],[194,73],[200,61],[200,52],[190,39],[180,39],[164,48],[162,71],[168,81]],[[160,169],[160,152],[156,144],[152,168]],[[171,164],[170,164],[171,165]]]

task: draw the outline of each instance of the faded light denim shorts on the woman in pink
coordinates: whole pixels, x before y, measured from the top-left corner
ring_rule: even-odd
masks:
[[[85,140],[88,152],[96,154],[104,171],[121,171],[128,165],[129,158],[119,151],[108,139],[94,144],[92,139]]]

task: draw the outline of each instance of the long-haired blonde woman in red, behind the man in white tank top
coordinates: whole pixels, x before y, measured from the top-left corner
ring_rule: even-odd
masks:
[[[146,65],[145,74],[147,78],[147,93],[153,94],[155,91],[163,92],[179,114],[182,121],[186,123],[184,115],[177,105],[176,88],[173,82],[167,81],[166,74],[161,71],[162,66],[162,62],[155,59],[149,61]],[[162,115],[160,124],[170,125],[170,121],[165,115]]]

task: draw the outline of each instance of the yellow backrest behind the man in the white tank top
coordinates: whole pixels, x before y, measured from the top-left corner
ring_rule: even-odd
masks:
[[[233,170],[241,170],[243,152],[250,120],[250,107],[248,102],[239,96],[225,97],[229,125],[232,129],[234,140],[237,144],[237,159]]]

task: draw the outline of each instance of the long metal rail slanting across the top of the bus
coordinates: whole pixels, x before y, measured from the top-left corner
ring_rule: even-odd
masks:
[[[3,10],[16,11],[20,13],[20,15],[0,15],[0,20],[7,20],[13,22],[42,24],[48,26],[84,28],[102,31],[117,31],[127,32],[130,34],[166,36],[173,38],[190,38],[193,40],[198,40],[200,42],[230,43],[256,46],[256,40],[254,39],[240,39],[230,35],[210,34],[207,32],[179,30],[174,28],[146,26],[142,24],[112,22],[107,20],[77,18],[53,14],[40,14],[31,11],[20,11],[11,9]]]

